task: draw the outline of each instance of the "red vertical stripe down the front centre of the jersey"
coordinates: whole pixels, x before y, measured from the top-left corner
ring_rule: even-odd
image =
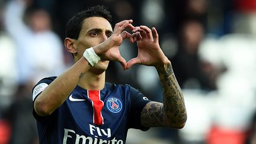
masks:
[[[100,91],[88,91],[88,98],[92,101],[92,107],[94,108],[93,122],[98,125],[102,125],[103,116],[101,110],[103,109],[103,101],[100,100]]]

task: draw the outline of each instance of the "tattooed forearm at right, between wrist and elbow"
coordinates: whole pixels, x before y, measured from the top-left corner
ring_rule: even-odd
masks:
[[[157,68],[163,91],[164,123],[168,127],[184,127],[187,112],[183,92],[175,78],[171,62]]]

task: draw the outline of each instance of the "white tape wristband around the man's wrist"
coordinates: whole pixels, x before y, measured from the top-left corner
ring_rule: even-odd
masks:
[[[85,59],[88,61],[90,66],[94,66],[98,63],[98,61],[100,61],[100,57],[98,55],[96,55],[96,53],[94,52],[94,49],[92,49],[92,47],[90,47],[89,49],[86,49],[84,52]]]

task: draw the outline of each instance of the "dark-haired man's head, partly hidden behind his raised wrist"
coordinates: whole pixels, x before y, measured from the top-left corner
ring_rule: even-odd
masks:
[[[85,49],[97,46],[113,33],[110,12],[103,6],[89,8],[75,14],[66,26],[66,49],[72,53],[75,62],[83,55]],[[100,60],[94,70],[107,69],[108,61]]]

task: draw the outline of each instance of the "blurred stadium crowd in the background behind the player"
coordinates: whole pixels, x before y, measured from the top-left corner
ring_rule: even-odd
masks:
[[[39,143],[31,89],[72,65],[66,23],[93,5],[107,6],[113,25],[156,27],[184,92],[183,129],[129,130],[127,143],[256,143],[256,0],[0,0],[0,144]],[[120,52],[132,59],[136,44]],[[107,81],[162,101],[154,68],[110,62]]]

